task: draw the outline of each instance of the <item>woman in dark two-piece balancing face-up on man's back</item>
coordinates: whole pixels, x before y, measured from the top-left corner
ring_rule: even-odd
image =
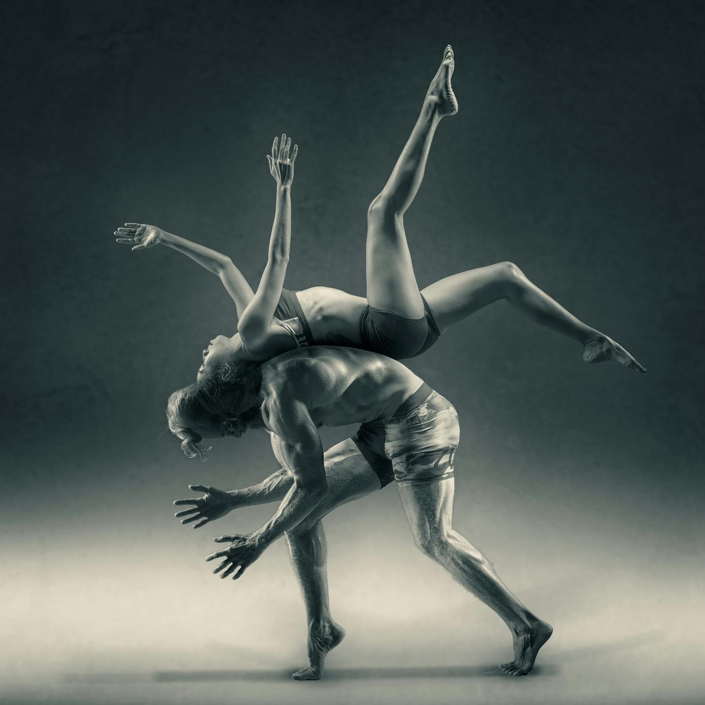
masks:
[[[155,226],[125,223],[118,228],[117,242],[131,244],[133,250],[162,243],[188,255],[217,274],[235,302],[238,332],[231,337],[216,336],[203,350],[197,374],[199,407],[204,404],[216,417],[236,416],[238,403],[233,392],[247,396],[249,388],[258,386],[259,363],[305,345],[350,345],[397,360],[421,355],[450,326],[500,299],[508,300],[538,324],[581,343],[584,362],[615,360],[646,372],[624,348],[575,318],[511,262],[464,271],[419,291],[404,213],[419,190],[436,128],[444,116],[458,112],[450,85],[454,66],[453,49],[448,46],[389,180],[369,204],[367,299],[321,286],[298,292],[282,288],[291,233],[290,189],[298,152],[294,145],[290,153],[291,140],[286,135],[281,136],[281,142],[274,139],[271,157],[267,156],[276,180],[276,211],[269,259],[257,293],[226,255]],[[170,427],[190,457],[200,455],[195,446],[200,434],[189,431],[177,417],[192,406],[195,394],[194,389],[185,388],[180,396],[172,395],[168,412]],[[221,425],[217,435],[234,432],[227,422]]]

